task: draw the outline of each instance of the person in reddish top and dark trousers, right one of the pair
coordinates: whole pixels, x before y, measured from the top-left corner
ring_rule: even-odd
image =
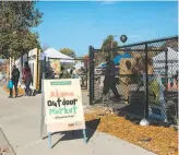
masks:
[[[22,69],[22,80],[25,84],[25,95],[31,96],[32,91],[29,88],[29,85],[31,83],[33,83],[33,76],[27,61],[24,63],[24,68]]]

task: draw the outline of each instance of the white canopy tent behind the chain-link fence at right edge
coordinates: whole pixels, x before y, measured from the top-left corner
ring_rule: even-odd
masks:
[[[178,70],[178,51],[175,51],[172,48],[168,47],[167,48],[167,61],[166,61],[166,52],[163,51],[158,53],[157,56],[153,57],[153,65],[154,65],[154,71],[155,72],[163,72],[165,73],[165,67],[167,62],[168,67],[168,73],[169,74],[175,74],[176,71]]]

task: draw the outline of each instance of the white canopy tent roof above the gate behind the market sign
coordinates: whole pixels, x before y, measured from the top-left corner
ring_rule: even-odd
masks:
[[[67,62],[67,63],[74,63],[74,59],[61,53],[60,51],[53,49],[53,48],[48,48],[47,50],[44,51],[44,55],[47,58],[57,58],[60,59],[61,62]]]

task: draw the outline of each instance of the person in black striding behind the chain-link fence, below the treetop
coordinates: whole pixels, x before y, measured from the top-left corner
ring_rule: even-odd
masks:
[[[103,96],[106,96],[109,92],[109,88],[112,91],[115,95],[115,99],[120,99],[120,95],[118,93],[118,90],[116,87],[116,79],[115,79],[115,62],[110,60],[110,57],[106,57],[106,70],[105,70],[105,80],[104,80],[104,90],[103,90]]]

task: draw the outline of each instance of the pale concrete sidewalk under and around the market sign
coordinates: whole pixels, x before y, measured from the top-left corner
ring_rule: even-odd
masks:
[[[39,139],[40,95],[29,98],[7,97],[8,94],[0,88],[0,128],[16,155],[154,155],[120,139],[92,130],[87,130],[92,136],[87,144],[83,142],[82,131],[75,131],[73,136],[71,132],[53,134],[55,146],[50,150],[48,140]],[[87,106],[86,100],[84,104]]]

